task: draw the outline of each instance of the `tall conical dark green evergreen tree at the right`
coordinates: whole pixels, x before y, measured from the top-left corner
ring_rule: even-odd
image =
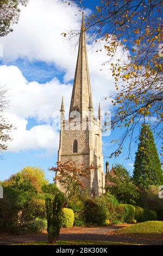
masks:
[[[149,185],[162,185],[161,163],[149,125],[143,125],[134,163],[133,179],[137,186],[148,188]]]

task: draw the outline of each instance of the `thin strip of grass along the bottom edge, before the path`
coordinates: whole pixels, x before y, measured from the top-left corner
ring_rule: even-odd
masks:
[[[50,245],[47,241],[42,242],[29,242],[29,243],[17,243],[13,245]],[[108,242],[108,241],[80,241],[80,240],[72,240],[58,241],[55,245],[135,245],[135,243],[123,243],[123,242]]]

